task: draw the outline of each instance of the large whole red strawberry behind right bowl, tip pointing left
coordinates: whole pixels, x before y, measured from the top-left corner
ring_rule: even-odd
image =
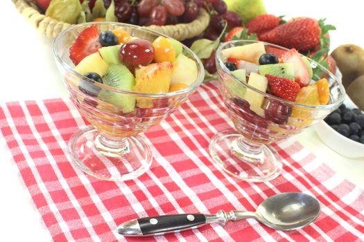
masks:
[[[320,35],[321,28],[317,20],[299,18],[261,34],[259,40],[306,51],[320,44]]]

